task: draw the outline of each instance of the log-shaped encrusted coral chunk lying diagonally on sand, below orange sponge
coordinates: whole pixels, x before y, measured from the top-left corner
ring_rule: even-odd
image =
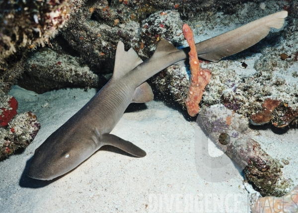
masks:
[[[245,178],[262,196],[283,196],[289,192],[293,181],[283,176],[282,164],[252,139],[247,122],[239,114],[224,106],[205,107],[197,122],[219,148],[245,167]]]

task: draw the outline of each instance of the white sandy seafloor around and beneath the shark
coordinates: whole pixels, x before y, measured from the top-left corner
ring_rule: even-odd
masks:
[[[27,177],[34,150],[95,92],[60,89],[39,95],[13,86],[9,94],[19,102],[18,113],[34,112],[41,129],[22,153],[0,162],[1,213],[250,212],[243,174],[224,182],[204,181],[195,164],[196,123],[160,101],[135,104],[112,131],[146,150],[144,158],[106,146],[61,178]],[[283,172],[297,185],[298,130],[258,132],[256,137],[268,154],[289,160]]]

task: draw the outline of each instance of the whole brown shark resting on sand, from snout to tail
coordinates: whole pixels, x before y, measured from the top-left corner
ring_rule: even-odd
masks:
[[[263,39],[270,27],[281,28],[287,15],[287,11],[277,12],[200,42],[196,44],[198,56],[218,62],[245,50]],[[183,64],[188,52],[189,48],[178,50],[166,40],[161,40],[152,57],[143,62],[132,48],[126,52],[124,44],[119,41],[110,81],[35,150],[28,176],[40,180],[59,177],[103,145],[113,145],[137,157],[144,157],[144,150],[109,133],[130,103],[153,99],[152,90],[145,81],[170,65]]]

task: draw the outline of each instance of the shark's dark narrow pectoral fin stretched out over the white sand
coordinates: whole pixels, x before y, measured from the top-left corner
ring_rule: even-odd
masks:
[[[115,146],[115,147],[120,148],[123,151],[126,151],[127,153],[130,153],[137,157],[145,157],[146,156],[146,152],[143,149],[139,148],[132,142],[125,141],[125,140],[119,138],[118,136],[105,133],[101,136],[100,139],[103,142],[103,144]]]

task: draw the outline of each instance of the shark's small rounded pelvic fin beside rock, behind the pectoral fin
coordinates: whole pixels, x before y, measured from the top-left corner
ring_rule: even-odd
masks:
[[[136,88],[132,102],[146,103],[151,100],[153,100],[152,89],[147,82],[144,82]]]

